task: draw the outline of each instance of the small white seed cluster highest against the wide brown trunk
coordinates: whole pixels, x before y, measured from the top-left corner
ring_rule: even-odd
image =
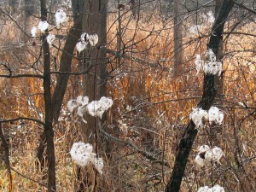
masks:
[[[80,41],[76,44],[76,49],[79,51],[79,54],[81,51],[87,48],[87,44],[90,43],[92,47],[94,47],[99,41],[99,37],[97,34],[90,35],[86,32],[81,34]]]

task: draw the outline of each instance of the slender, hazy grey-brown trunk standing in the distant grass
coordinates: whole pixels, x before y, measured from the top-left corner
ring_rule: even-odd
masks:
[[[173,76],[181,72],[183,68],[183,29],[182,29],[182,16],[181,16],[181,0],[174,1],[174,27],[173,27],[173,40],[174,40],[174,63],[173,63]]]

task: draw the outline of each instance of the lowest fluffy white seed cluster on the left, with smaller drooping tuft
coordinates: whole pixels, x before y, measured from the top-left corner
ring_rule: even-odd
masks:
[[[73,143],[73,146],[70,150],[71,158],[79,166],[87,166],[89,163],[92,163],[96,170],[102,174],[103,169],[103,160],[102,158],[96,158],[96,154],[93,153],[93,147],[90,143]]]

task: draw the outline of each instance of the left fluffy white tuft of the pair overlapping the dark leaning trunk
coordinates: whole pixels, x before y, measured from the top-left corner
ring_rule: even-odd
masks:
[[[208,113],[201,108],[192,108],[192,113],[190,113],[189,118],[193,120],[197,128],[202,128],[208,119]]]

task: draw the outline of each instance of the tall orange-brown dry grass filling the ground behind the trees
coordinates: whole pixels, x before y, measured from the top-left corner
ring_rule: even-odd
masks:
[[[152,18],[148,22],[139,20],[137,23],[130,16],[128,13],[122,20],[122,40],[127,48],[126,54],[146,62],[160,62],[161,66],[172,67],[172,22],[165,24]],[[116,20],[116,15],[108,18],[108,27],[111,26],[108,32],[108,42],[111,42],[108,44],[109,49],[117,49],[118,26],[117,23],[112,25],[113,20]],[[250,23],[241,27],[239,32],[249,32],[254,28]],[[6,41],[13,42],[14,33],[19,32],[10,28],[9,33]],[[255,57],[253,53],[234,53],[235,50],[253,49],[253,40],[246,36],[241,38],[231,35],[225,45],[224,52],[228,54],[224,57],[224,100],[217,101],[225,113],[223,131],[219,132],[218,141],[211,137],[209,125],[199,132],[183,178],[182,192],[196,191],[202,185],[213,183],[224,186],[225,191],[233,192],[250,192],[255,186],[255,113],[253,108],[245,109],[239,104],[246,102],[248,106],[255,106]],[[191,43],[191,38],[183,38],[183,41],[188,43],[183,54],[185,67],[183,75],[177,79],[172,78],[171,72],[161,71],[160,67],[148,67],[128,59],[123,59],[121,66],[118,66],[116,58],[108,55],[112,61],[108,68],[114,69],[111,75],[115,77],[108,81],[108,92],[114,100],[114,107],[108,113],[108,132],[157,154],[160,160],[164,157],[170,168],[145,159],[122,143],[109,141],[109,151],[100,152],[105,160],[105,168],[102,177],[98,179],[99,191],[164,190],[172,171],[177,143],[189,122],[191,108],[196,106],[201,97],[202,73],[195,76],[194,58],[195,54],[205,52],[207,38]],[[37,44],[39,42],[38,39]],[[39,56],[39,47],[33,48],[31,44],[32,39],[26,43],[25,58],[15,56],[19,55],[20,49],[9,48],[2,52],[1,60],[8,61],[14,67],[21,64],[22,67],[31,67],[32,62]],[[53,55],[59,58],[60,53],[54,51]],[[27,63],[30,65],[26,65]],[[38,70],[40,67],[41,63],[38,62]],[[76,80],[71,79],[66,100],[73,96]],[[41,118],[40,113],[44,113],[43,97],[40,95],[41,81],[1,79],[0,85],[1,118],[8,119],[19,115]],[[29,104],[28,99],[33,104]],[[64,106],[65,103],[67,102],[64,102]],[[248,116],[249,113],[252,114]],[[18,129],[19,125],[21,128]],[[46,180],[42,180],[46,175],[46,167],[38,170],[35,166],[35,153],[42,127],[23,121],[14,125],[3,125],[3,128],[9,135],[11,166],[26,177],[46,184]],[[69,150],[73,142],[81,139],[79,123],[67,114],[64,107],[61,120],[55,126],[56,176],[57,188],[60,191],[73,191],[74,186],[79,184],[76,179],[77,167],[70,158]],[[224,149],[225,156],[221,165],[199,171],[195,167],[194,156],[197,148],[205,143],[218,143]],[[105,144],[102,141],[102,145]],[[9,177],[3,163],[0,167],[0,190],[8,191]],[[91,177],[95,177],[91,167],[89,172]],[[14,191],[46,191],[44,187],[15,172],[12,172],[12,176]]]

